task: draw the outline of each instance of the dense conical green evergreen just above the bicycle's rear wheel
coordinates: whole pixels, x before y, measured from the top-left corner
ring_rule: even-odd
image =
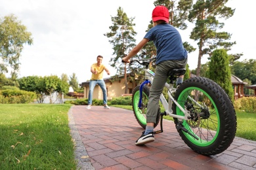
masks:
[[[208,77],[224,89],[230,99],[234,99],[234,91],[231,82],[231,70],[229,67],[228,54],[226,50],[214,50],[209,61]]]

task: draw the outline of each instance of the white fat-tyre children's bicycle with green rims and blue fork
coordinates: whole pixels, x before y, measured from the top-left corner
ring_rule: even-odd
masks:
[[[156,58],[131,59],[129,65],[137,62],[144,65],[144,81],[133,89],[133,113],[141,127],[146,127],[146,108],[150,94],[150,84],[154,80],[154,72],[149,69]],[[186,69],[173,69],[169,74],[167,99],[161,93],[158,116],[154,127],[160,122],[163,132],[163,116],[171,116],[175,127],[184,143],[194,152],[206,156],[215,155],[226,150],[236,135],[236,112],[232,101],[217,83],[205,77],[193,77],[184,80],[179,88],[174,88],[175,80],[184,75]],[[149,86],[148,86],[149,85]],[[168,100],[168,101],[167,101]],[[161,120],[161,121],[160,121]]]

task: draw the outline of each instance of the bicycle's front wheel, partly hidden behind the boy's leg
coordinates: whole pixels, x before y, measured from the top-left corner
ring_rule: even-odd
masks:
[[[133,96],[132,96],[133,113],[135,115],[137,122],[144,129],[146,128],[146,110],[148,107],[149,94],[150,94],[150,89],[148,88],[148,86],[143,86],[142,103],[140,108],[139,108],[140,85],[133,90]],[[158,126],[159,121],[160,121],[160,106],[158,107],[158,116],[156,117],[156,124],[154,124],[154,127]]]

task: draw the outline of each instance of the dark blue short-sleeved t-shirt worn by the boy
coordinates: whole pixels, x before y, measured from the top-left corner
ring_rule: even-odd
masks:
[[[179,31],[170,24],[158,24],[152,27],[144,39],[153,41],[156,46],[156,64],[167,60],[181,60],[188,57]]]

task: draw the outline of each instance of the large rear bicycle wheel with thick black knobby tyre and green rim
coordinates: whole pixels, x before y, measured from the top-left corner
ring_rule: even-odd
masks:
[[[182,126],[194,135],[179,130],[182,140],[192,150],[208,156],[219,154],[230,146],[236,135],[236,112],[218,84],[209,78],[189,78],[179,86],[175,99],[190,112],[188,120],[175,118],[175,124],[182,121]],[[177,105],[173,106],[173,111],[184,116]]]

